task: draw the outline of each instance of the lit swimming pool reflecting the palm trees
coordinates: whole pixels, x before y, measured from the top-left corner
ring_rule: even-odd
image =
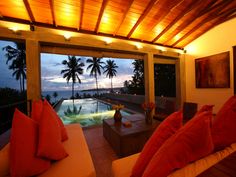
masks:
[[[80,123],[82,127],[100,125],[103,119],[113,118],[112,105],[93,98],[64,100],[57,111],[64,124]],[[121,110],[122,116],[130,112]]]

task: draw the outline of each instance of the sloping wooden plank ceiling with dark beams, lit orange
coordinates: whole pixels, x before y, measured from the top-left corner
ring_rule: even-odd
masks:
[[[174,48],[236,17],[236,0],[1,0],[0,20]]]

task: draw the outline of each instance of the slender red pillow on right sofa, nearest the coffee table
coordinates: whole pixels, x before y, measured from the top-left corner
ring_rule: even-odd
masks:
[[[182,126],[182,111],[168,116],[155,130],[153,135],[145,144],[138,160],[136,161],[131,177],[141,177],[149,161],[162,144]]]

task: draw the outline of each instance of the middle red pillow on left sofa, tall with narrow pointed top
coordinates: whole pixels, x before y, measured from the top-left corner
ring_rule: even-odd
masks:
[[[60,160],[68,155],[61,142],[61,128],[57,117],[46,102],[43,103],[43,112],[39,121],[37,155],[51,160]]]

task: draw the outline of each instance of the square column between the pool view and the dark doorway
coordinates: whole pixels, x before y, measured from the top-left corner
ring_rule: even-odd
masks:
[[[145,101],[155,103],[154,56],[147,53],[144,57]]]

